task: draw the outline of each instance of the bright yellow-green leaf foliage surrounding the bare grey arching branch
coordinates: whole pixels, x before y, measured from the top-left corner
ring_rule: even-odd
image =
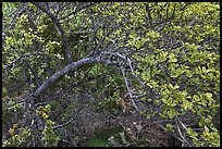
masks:
[[[3,79],[3,121],[9,121],[8,115],[22,111],[22,105],[15,104],[13,98],[8,100],[10,90],[5,86],[9,83],[22,83],[25,75],[33,78],[28,80],[30,85],[26,90],[36,90],[51,74],[64,67],[67,61],[63,37],[57,32],[55,23],[46,13],[36,16],[36,27],[32,26],[33,22],[27,12],[17,17],[14,27],[10,26],[12,22],[10,14],[18,8],[20,3],[2,3],[5,14],[2,30],[7,35],[2,37],[2,70],[11,65],[7,74],[9,76]],[[33,3],[27,3],[27,8],[32,14],[38,11]],[[53,9],[51,10],[55,13]],[[58,16],[63,14],[69,14],[69,10],[58,13]],[[95,25],[94,22],[97,21],[98,24]],[[67,20],[61,20],[60,23],[65,29],[65,39],[73,62],[87,55],[99,58],[104,55],[102,59],[107,59],[106,52],[123,53],[131,59],[135,69],[131,73],[139,77],[151,90],[141,100],[149,101],[153,109],[143,109],[139,111],[141,115],[163,120],[165,131],[171,133],[178,127],[183,128],[190,146],[220,147],[220,123],[215,123],[220,114],[220,4],[101,2]],[[107,24],[109,25],[106,26]],[[113,26],[115,27],[112,28]],[[113,32],[108,34],[112,29]],[[83,34],[76,34],[78,30]],[[96,39],[91,39],[92,37]],[[103,40],[100,45],[101,39]],[[109,46],[111,48],[107,50]],[[92,50],[95,52],[91,52]],[[113,61],[121,60],[115,58]],[[124,79],[119,73],[113,73],[113,70],[104,65],[84,65],[75,70],[73,73],[75,77],[66,74],[51,88],[76,83],[88,75],[101,80],[95,95],[103,90],[104,86],[114,92],[114,88],[124,84]],[[106,72],[111,75],[107,78],[99,76]],[[138,83],[132,84],[140,92],[147,91],[141,90]],[[94,82],[88,79],[87,84],[83,83],[83,88],[90,88],[94,85]],[[114,94],[110,94],[111,98],[118,99],[118,94],[121,91],[115,90]],[[106,111],[110,107],[110,109],[116,107],[112,101],[106,99],[95,107],[98,111]],[[54,105],[57,107],[57,103]],[[65,109],[62,122],[70,117],[73,107],[74,103],[71,103]],[[55,122],[49,116],[50,111],[49,104],[38,107],[36,110],[37,115],[45,122],[41,129],[41,144],[45,147],[57,146],[60,140],[53,129]],[[147,111],[148,114],[145,114]],[[186,117],[192,119],[190,123],[195,125],[185,124]],[[15,122],[13,124],[16,125]],[[26,146],[32,131],[25,127],[14,135],[14,125],[11,128],[12,137],[3,140],[3,146]],[[3,126],[3,129],[4,127],[7,126]]]

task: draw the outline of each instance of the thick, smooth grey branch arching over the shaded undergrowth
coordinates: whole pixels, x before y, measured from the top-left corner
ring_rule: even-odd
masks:
[[[50,76],[34,94],[34,96],[40,95],[44,90],[46,90],[52,83],[57,82],[61,76],[72,72],[74,69],[82,66],[84,64],[92,64],[92,63],[106,63],[106,64],[113,64],[108,60],[101,60],[99,58],[86,58],[82,59],[77,62],[73,62],[66,65],[64,69],[58,71],[52,76]]]

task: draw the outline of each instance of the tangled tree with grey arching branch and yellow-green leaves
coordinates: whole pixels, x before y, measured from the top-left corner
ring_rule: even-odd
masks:
[[[44,141],[30,146],[57,146],[47,141],[54,123],[44,105],[57,111],[59,96],[69,108],[72,88],[81,94],[97,84],[92,97],[104,87],[115,99],[126,90],[137,113],[183,146],[220,146],[219,3],[4,2],[2,8],[3,134],[13,124],[32,134],[39,126]]]

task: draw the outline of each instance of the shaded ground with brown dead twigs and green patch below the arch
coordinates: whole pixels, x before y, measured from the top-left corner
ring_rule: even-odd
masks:
[[[169,147],[169,134],[137,112],[124,113],[121,109],[101,112],[89,107],[84,104],[78,110],[78,122],[73,122],[72,134],[79,135],[76,146]]]

